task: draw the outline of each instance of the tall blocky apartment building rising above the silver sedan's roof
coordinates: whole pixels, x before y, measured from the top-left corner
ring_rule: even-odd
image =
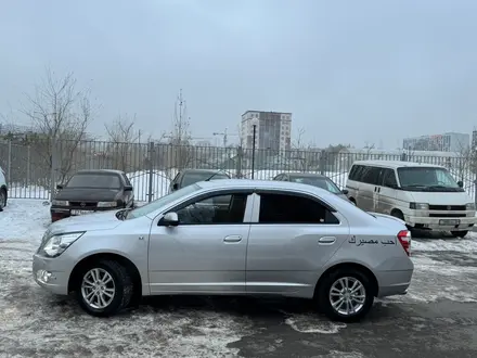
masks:
[[[241,136],[245,149],[285,151],[292,145],[292,113],[247,111],[242,115]]]

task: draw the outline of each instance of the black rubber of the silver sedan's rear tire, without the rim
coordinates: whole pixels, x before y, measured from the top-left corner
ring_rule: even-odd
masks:
[[[330,290],[337,280],[344,277],[351,277],[357,280],[359,280],[363,285],[364,290],[366,292],[366,298],[364,301],[363,308],[354,315],[350,316],[343,316],[338,314],[330,303]],[[328,317],[331,320],[334,321],[341,321],[341,322],[356,322],[361,320],[364,316],[368,315],[371,307],[374,303],[374,293],[373,287],[370,282],[370,279],[365,273],[363,273],[360,270],[352,270],[352,269],[338,269],[331,274],[328,274],[326,278],[323,279],[323,281],[320,284],[319,291],[318,291],[318,305],[320,310]]]

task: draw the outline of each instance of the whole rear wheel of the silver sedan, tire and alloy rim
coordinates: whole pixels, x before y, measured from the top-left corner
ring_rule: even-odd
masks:
[[[344,293],[343,290],[350,290],[354,286],[354,299],[352,295]],[[317,292],[318,306],[321,312],[333,321],[340,322],[356,322],[368,315],[374,303],[374,290],[370,278],[362,271],[356,269],[338,269],[326,276],[318,287]],[[350,301],[346,301],[347,297]],[[358,301],[359,298],[359,301]],[[343,306],[336,307],[336,303],[344,303]],[[335,303],[335,306],[332,304]],[[353,306],[347,306],[353,305]],[[335,308],[336,307],[336,308]],[[346,309],[347,307],[354,307],[356,312]],[[348,312],[346,312],[348,310]]]

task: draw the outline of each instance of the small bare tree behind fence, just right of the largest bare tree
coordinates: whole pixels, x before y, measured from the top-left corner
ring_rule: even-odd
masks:
[[[138,163],[142,159],[140,144],[136,144],[141,132],[136,129],[136,115],[129,118],[128,115],[119,115],[111,125],[105,125],[111,150],[108,151],[112,158],[113,168],[130,171],[136,170]],[[134,161],[136,159],[136,161]]]

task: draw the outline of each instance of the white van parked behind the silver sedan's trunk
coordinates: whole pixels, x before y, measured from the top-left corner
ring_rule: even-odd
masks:
[[[474,200],[444,167],[388,161],[357,161],[346,189],[366,212],[387,214],[410,228],[450,231],[464,238],[474,227]]]

